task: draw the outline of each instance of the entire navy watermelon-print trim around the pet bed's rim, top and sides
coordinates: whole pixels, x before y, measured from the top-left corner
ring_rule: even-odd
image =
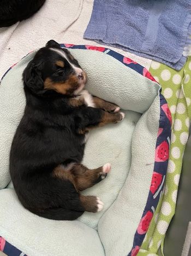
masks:
[[[104,47],[97,47],[97,46],[95,47],[92,45],[74,45],[74,44],[60,44],[60,45],[63,48],[97,50],[98,52],[108,54],[113,58],[117,59],[118,61],[122,62],[124,65],[128,66],[130,69],[133,69],[134,71],[140,73],[140,75],[150,79],[151,81],[157,82],[145,67],[123,56],[122,54],[114,52],[114,50],[110,50]],[[16,64],[14,64],[14,66],[15,65]],[[12,67],[10,67],[9,70]],[[7,72],[9,72],[9,70],[7,70]],[[7,72],[5,72],[2,79],[7,74]],[[0,84],[1,84],[1,81],[0,81]],[[156,145],[156,161],[154,163],[153,177],[152,177],[150,192],[148,194],[144,213],[142,214],[142,219],[140,220],[140,224],[134,236],[132,250],[128,253],[128,256],[136,256],[139,252],[140,246],[142,244],[142,241],[145,238],[146,231],[153,217],[153,211],[154,209],[157,208],[160,193],[161,191],[163,191],[165,174],[168,167],[169,143],[170,143],[169,138],[171,135],[172,118],[171,118],[171,113],[170,113],[168,104],[166,103],[164,96],[161,94],[161,90],[160,90],[159,96],[160,96],[160,121],[159,121],[159,130],[158,130],[158,136],[157,136],[158,138],[157,138],[157,145]],[[7,244],[8,244],[7,248],[13,247],[11,246],[11,244],[9,243]]]

